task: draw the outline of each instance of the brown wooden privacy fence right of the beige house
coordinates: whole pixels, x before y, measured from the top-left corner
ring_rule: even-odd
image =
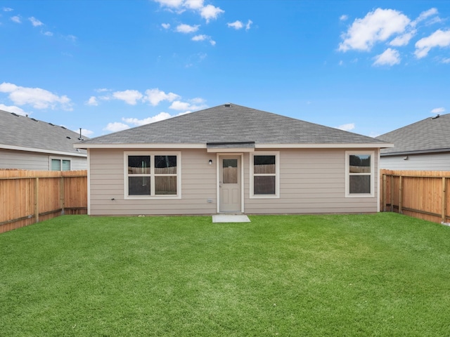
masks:
[[[436,223],[450,221],[450,171],[380,170],[381,211]]]

